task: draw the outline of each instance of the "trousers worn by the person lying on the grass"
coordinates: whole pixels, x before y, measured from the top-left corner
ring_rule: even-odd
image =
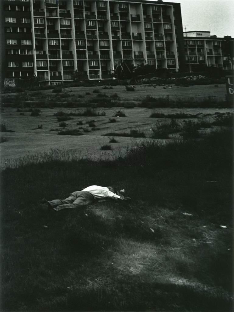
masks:
[[[89,192],[76,191],[69,195],[65,199],[55,199],[48,201],[50,206],[59,211],[66,208],[79,208],[81,206],[89,205],[94,201],[94,197]]]

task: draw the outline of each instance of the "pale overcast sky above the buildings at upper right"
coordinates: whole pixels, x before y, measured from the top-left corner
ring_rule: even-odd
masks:
[[[164,1],[180,3],[182,23],[187,32],[203,30],[217,37],[234,37],[234,0]]]

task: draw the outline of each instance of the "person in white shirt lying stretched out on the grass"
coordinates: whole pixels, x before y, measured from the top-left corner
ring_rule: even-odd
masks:
[[[103,187],[98,185],[91,185],[84,188],[82,191],[75,191],[65,199],[55,199],[47,201],[45,198],[42,199],[42,203],[47,205],[48,209],[54,209],[60,211],[66,208],[78,208],[80,206],[89,205],[97,200],[111,198],[128,200],[130,197],[124,197],[122,194],[125,193],[124,189],[116,191],[111,186]]]

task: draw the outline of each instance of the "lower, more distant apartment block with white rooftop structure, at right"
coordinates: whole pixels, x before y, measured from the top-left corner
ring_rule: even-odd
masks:
[[[211,36],[207,31],[184,32],[185,60],[189,71],[197,69],[199,65],[232,69],[234,61],[233,57],[227,56],[225,40]]]

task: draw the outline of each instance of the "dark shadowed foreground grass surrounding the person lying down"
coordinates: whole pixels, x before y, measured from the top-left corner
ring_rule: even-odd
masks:
[[[40,159],[2,171],[2,310],[232,311],[231,131]],[[40,209],[92,184],[132,199]]]

